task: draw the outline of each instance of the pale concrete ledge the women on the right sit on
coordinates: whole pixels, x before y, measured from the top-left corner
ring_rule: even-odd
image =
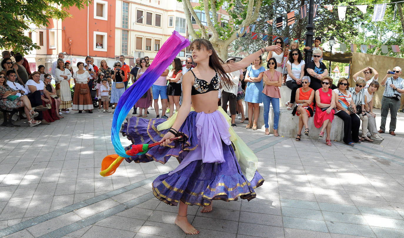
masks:
[[[287,87],[286,87],[287,88]],[[290,89],[288,89],[290,91]],[[248,117],[248,105],[245,103],[245,109],[246,109],[246,117]],[[262,130],[265,130],[265,123],[264,123],[264,105],[263,103],[260,103],[259,106],[259,117],[257,121],[257,126],[258,128],[261,128]],[[274,127],[274,110],[271,108],[269,110],[269,132],[272,134],[274,132],[273,127]],[[280,112],[279,112],[279,123],[278,123],[278,134],[280,136],[284,137],[296,137],[297,135],[297,129],[299,126],[299,117],[298,116],[293,116],[292,115],[292,110],[287,110],[284,107],[280,107]],[[334,120],[332,120],[332,126],[331,126],[331,135],[330,138],[333,141],[342,141],[344,137],[344,130],[343,130],[343,120],[339,118],[338,116],[334,117]],[[320,128],[316,128],[314,126],[314,118],[311,117],[309,118],[309,136],[304,135],[304,126],[302,130],[302,139],[323,139],[325,140],[326,138],[326,133],[324,133],[324,138],[318,137],[318,134],[320,133]]]

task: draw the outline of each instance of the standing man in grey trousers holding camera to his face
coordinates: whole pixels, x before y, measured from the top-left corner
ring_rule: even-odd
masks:
[[[379,133],[384,133],[386,126],[387,114],[390,110],[390,128],[389,134],[395,136],[397,111],[400,108],[401,93],[404,93],[404,79],[400,78],[401,68],[396,66],[393,71],[388,70],[387,75],[381,81],[381,85],[385,87],[383,98],[381,99],[381,123]]]

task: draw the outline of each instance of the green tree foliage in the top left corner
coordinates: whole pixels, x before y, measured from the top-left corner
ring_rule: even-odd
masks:
[[[49,19],[69,17],[66,11],[71,6],[83,8],[87,0],[1,0],[0,1],[0,48],[27,52],[39,49],[23,34],[31,30],[29,24],[46,26]]]

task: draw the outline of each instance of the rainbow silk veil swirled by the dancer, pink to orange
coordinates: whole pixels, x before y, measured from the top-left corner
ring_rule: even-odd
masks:
[[[189,46],[189,40],[185,39],[177,31],[173,31],[166,42],[161,46],[159,52],[151,62],[143,75],[131,85],[118,101],[112,119],[111,140],[117,155],[108,155],[101,163],[101,176],[113,174],[125,157],[141,155],[147,152],[152,145],[136,145],[130,151],[124,150],[119,138],[119,131],[128,112],[135,106],[139,98],[149,90],[151,85],[162,75],[164,70],[173,62],[177,54]],[[154,145],[153,145],[154,146]]]

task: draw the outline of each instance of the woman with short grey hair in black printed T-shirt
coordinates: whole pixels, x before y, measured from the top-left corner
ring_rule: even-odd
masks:
[[[311,79],[310,87],[316,91],[320,89],[321,79],[328,75],[326,65],[320,61],[322,51],[320,49],[313,50],[313,60],[306,64],[306,76]],[[331,85],[331,89],[336,89],[337,86]]]

